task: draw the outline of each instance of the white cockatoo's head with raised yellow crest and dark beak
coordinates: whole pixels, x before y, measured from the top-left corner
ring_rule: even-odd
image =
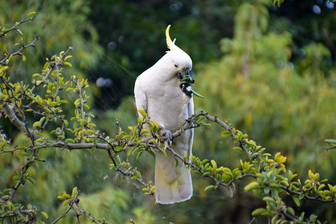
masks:
[[[167,54],[165,55],[168,59],[166,66],[176,74],[179,80],[182,80],[184,76],[189,75],[189,71],[191,71],[193,67],[193,62],[187,53],[175,45],[176,39],[174,39],[174,41],[170,39],[169,28],[170,25],[166,29],[167,47],[170,49],[166,51]]]

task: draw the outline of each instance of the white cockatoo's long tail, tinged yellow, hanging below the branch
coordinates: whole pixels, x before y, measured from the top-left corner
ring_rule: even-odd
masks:
[[[168,175],[168,177],[167,174],[165,174],[165,171],[163,171],[159,167],[160,159],[158,157],[160,157],[160,155],[158,156],[157,154],[157,159],[155,163],[155,198],[158,203],[172,204],[190,199],[193,195],[193,185],[190,169],[187,169],[185,168],[185,166],[183,166],[177,167],[176,169],[179,170],[177,171],[176,169],[174,169],[174,167],[172,169],[174,171],[171,173],[171,175],[178,176],[177,179],[173,178],[175,180],[170,181],[168,180],[168,178],[171,177],[171,175]],[[169,157],[169,155],[167,155],[167,157]],[[175,165],[174,162],[171,164]]]

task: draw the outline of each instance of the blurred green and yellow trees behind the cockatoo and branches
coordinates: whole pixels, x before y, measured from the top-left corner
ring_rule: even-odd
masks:
[[[171,24],[171,37],[193,62],[194,89],[206,99],[194,98],[195,111],[204,110],[233,127],[244,130],[270,153],[287,156],[287,167],[300,176],[308,170],[336,184],[336,152],[325,151],[324,139],[336,136],[336,11],[325,0],[221,1],[85,1],[7,0],[0,2],[0,26],[12,26],[28,12],[33,22],[22,32],[41,39],[27,49],[29,66],[17,62],[11,79],[31,82],[30,75],[43,68],[44,59],[73,47],[72,75],[89,80],[88,102],[95,124],[108,134],[135,124],[133,87],[136,77],[160,59],[166,48],[164,31]],[[11,34],[2,42],[1,54],[19,39]],[[31,38],[31,40],[29,40]],[[33,57],[34,56],[34,57]],[[32,59],[31,59],[32,58]],[[38,60],[34,60],[38,58]],[[18,60],[19,61],[19,60]],[[26,62],[26,63],[27,63]],[[29,74],[29,76],[27,76]],[[69,100],[70,96],[69,96]],[[73,111],[69,108],[69,111]],[[8,120],[8,119],[7,119]],[[10,123],[0,126],[14,146],[25,141]],[[221,137],[213,126],[195,130],[193,154],[216,158],[226,167],[239,166],[243,155]],[[18,198],[28,201],[55,219],[66,210],[56,196],[77,186],[83,209],[110,223],[248,223],[251,211],[263,203],[236,187],[234,197],[221,188],[204,192],[209,180],[193,176],[192,199],[173,205],[155,205],[134,181],[120,182],[109,170],[102,151],[45,151],[46,165],[31,167],[34,188],[20,188]],[[0,156],[0,186],[12,185],[11,170],[19,166],[9,154]],[[138,169],[154,180],[154,160],[142,156]],[[242,181],[243,182],[243,181]],[[30,183],[27,183],[30,184]],[[242,184],[243,186],[243,184]],[[302,203],[295,206],[336,223],[335,205]],[[210,208],[211,209],[208,209]],[[258,217],[260,222],[262,218]],[[67,216],[62,223],[76,223]],[[259,222],[258,222],[259,223]]]

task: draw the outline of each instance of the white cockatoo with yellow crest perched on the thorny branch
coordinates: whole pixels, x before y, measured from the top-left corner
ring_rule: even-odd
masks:
[[[166,29],[167,47],[170,49],[151,68],[144,71],[135,81],[134,96],[137,109],[146,109],[147,116],[155,121],[167,134],[176,131],[185,120],[194,114],[193,94],[190,84],[182,82],[192,69],[190,56],[175,45]],[[186,85],[184,85],[186,84]],[[180,88],[179,88],[180,86]],[[139,116],[141,114],[139,113]],[[193,129],[182,132],[173,139],[171,147],[180,155],[187,152],[189,158],[193,144]],[[160,204],[171,204],[190,199],[193,185],[190,169],[176,161],[173,153],[166,151],[167,157],[156,152],[155,159],[155,198]]]

